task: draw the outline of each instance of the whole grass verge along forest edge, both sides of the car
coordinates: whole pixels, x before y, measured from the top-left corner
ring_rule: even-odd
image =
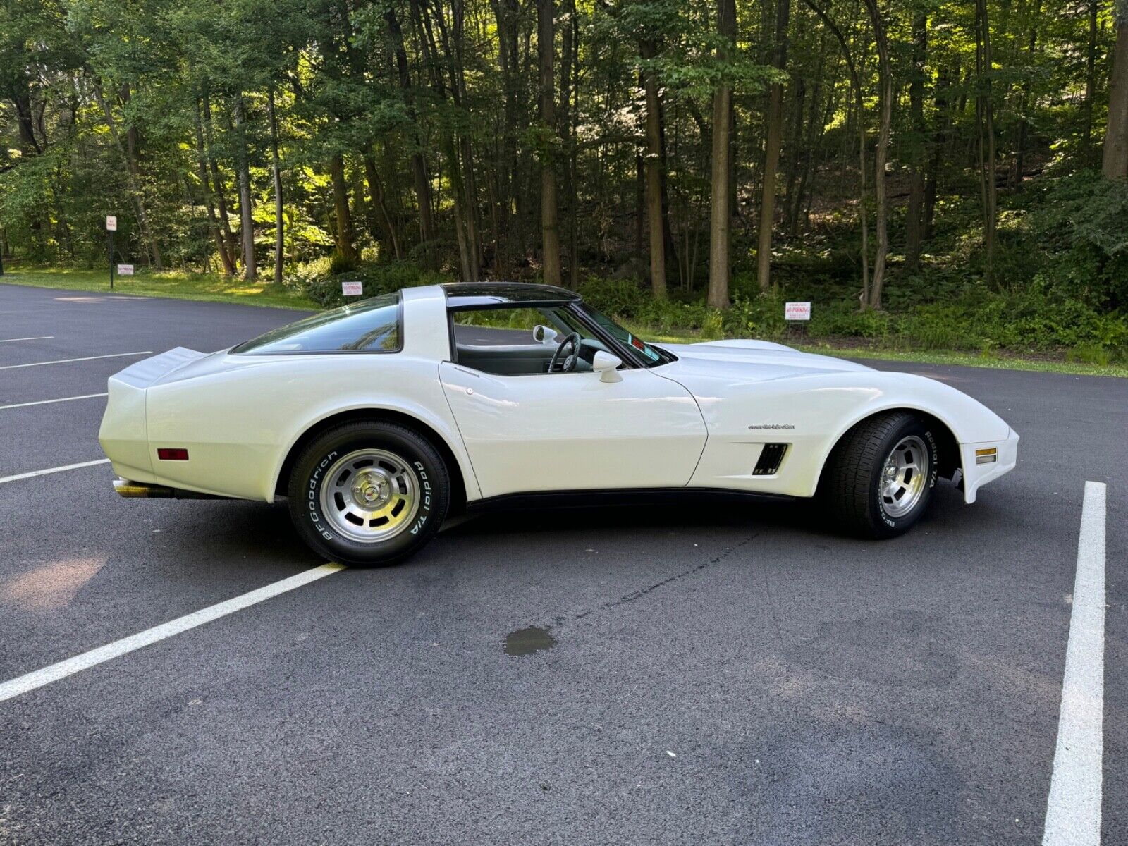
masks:
[[[6,270],[0,284],[35,285],[58,288],[69,291],[109,290],[107,271],[81,271],[65,268]],[[206,273],[142,273],[136,276],[118,276],[114,281],[114,293],[132,293],[144,297],[170,297],[182,300],[204,300],[208,302],[241,302],[248,306],[273,306],[317,310],[318,306],[296,291],[280,288],[270,281],[244,282],[240,279]],[[703,341],[700,333],[661,332],[646,326],[629,326],[640,337],[669,344],[694,344]],[[1030,359],[998,353],[964,353],[943,350],[905,351],[885,347],[835,346],[829,343],[792,343],[804,352],[821,353],[849,359],[884,359],[923,364],[960,364],[963,367],[996,368],[1001,370],[1033,370],[1049,373],[1072,373],[1076,376],[1128,377],[1123,364],[1089,364],[1077,361]]]

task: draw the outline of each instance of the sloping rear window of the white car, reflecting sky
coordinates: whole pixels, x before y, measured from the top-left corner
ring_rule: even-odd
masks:
[[[398,352],[403,349],[398,293],[373,297],[307,317],[239,344],[233,353]]]

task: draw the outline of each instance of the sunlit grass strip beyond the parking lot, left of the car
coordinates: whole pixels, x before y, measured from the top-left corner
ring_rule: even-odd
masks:
[[[109,271],[81,271],[69,268],[5,268],[0,283],[58,288],[67,291],[109,292]],[[170,297],[178,300],[206,302],[244,302],[249,306],[273,306],[316,310],[317,303],[296,291],[275,285],[270,280],[244,282],[241,279],[210,273],[141,273],[135,276],[114,277],[114,293],[133,293],[143,297]]]

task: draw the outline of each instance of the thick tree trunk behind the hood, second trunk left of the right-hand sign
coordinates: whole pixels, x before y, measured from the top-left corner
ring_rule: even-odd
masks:
[[[719,59],[725,60],[737,39],[735,0],[717,0],[716,32],[721,36]],[[732,222],[729,178],[732,174],[730,125],[732,87],[722,81],[713,92],[713,158],[708,248],[708,305],[729,307],[729,229]],[[690,281],[691,281],[690,275]]]

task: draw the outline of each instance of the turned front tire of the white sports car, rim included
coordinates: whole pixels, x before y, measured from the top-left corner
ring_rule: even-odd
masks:
[[[902,455],[917,450],[922,455],[915,460],[927,461],[924,472],[917,474],[923,486],[911,505],[882,495],[889,482],[883,475],[887,461],[898,447],[902,447]],[[863,538],[897,537],[913,528],[928,509],[938,459],[935,433],[925,421],[906,412],[880,414],[858,423],[835,447],[822,473],[820,495],[844,531]],[[901,509],[907,510],[898,513]]]

